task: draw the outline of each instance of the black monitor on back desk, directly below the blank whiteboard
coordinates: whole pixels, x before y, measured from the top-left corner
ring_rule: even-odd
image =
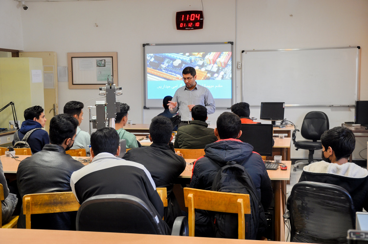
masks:
[[[260,103],[260,119],[272,121],[276,126],[276,121],[283,120],[285,111],[285,102],[261,102]]]

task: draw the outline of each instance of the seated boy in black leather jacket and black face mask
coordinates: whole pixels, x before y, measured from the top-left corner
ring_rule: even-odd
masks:
[[[65,153],[73,146],[77,127],[78,120],[67,114],[51,119],[51,143],[19,163],[17,184],[21,199],[27,194],[71,191],[71,174],[84,166]],[[22,209],[18,228],[25,228]],[[32,229],[75,230],[76,216],[76,212],[32,215]]]

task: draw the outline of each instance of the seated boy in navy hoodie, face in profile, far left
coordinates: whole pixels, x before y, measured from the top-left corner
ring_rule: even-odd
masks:
[[[13,145],[15,142],[22,141],[24,135],[28,131],[36,129],[27,139],[32,154],[34,154],[41,151],[45,144],[50,143],[47,132],[41,129],[44,128],[46,124],[43,108],[41,106],[27,108],[24,110],[24,119],[25,121],[22,122],[21,128],[17,131],[18,134],[14,134]]]

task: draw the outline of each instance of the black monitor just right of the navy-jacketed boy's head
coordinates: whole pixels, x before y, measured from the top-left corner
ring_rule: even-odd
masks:
[[[241,124],[242,134],[239,138],[253,146],[253,151],[261,156],[272,156],[272,124]]]

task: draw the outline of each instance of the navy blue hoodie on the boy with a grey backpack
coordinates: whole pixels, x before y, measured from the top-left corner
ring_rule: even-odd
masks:
[[[22,140],[24,135],[34,128],[42,128],[41,124],[37,121],[26,120],[22,122],[21,129],[18,132],[19,138]],[[32,154],[37,153],[42,150],[45,144],[50,143],[50,139],[48,138],[48,134],[44,130],[35,130],[32,134],[28,137],[27,140],[29,146],[31,147]],[[13,140],[13,145],[14,145]]]

